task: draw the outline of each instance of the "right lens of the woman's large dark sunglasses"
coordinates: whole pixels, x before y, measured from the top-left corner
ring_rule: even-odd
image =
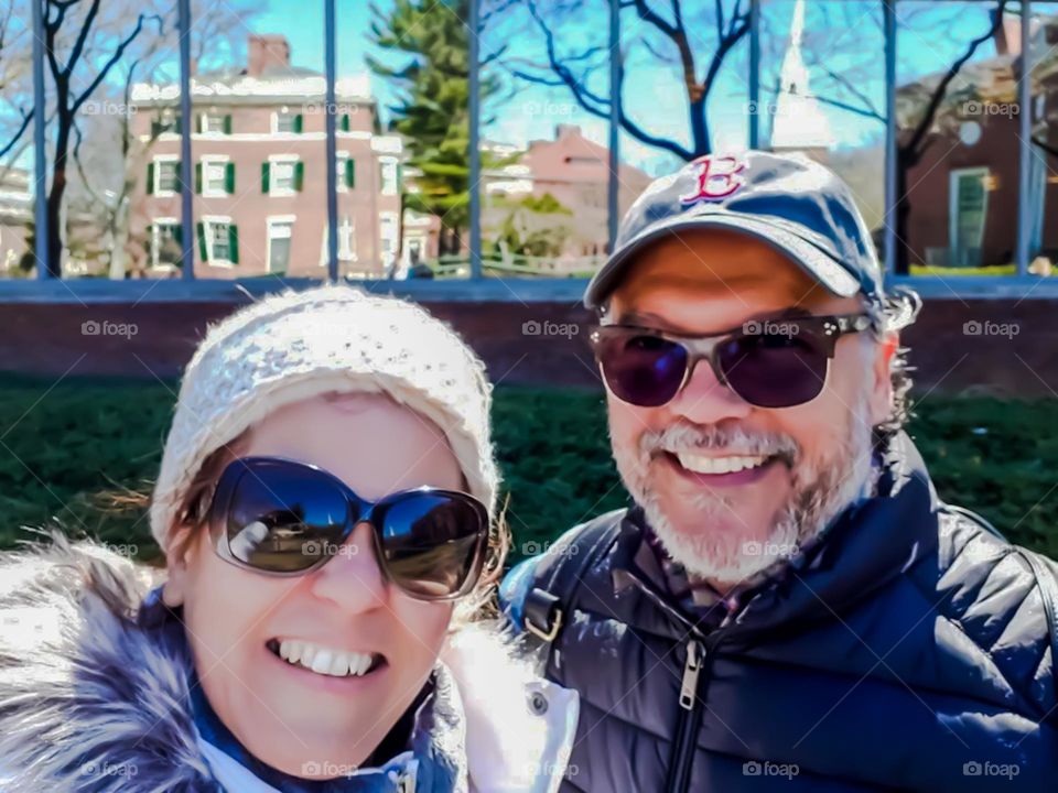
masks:
[[[488,536],[484,509],[452,493],[407,493],[385,506],[381,547],[393,583],[423,600],[464,590]]]

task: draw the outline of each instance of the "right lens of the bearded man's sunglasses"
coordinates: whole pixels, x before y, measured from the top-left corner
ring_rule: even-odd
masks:
[[[828,356],[807,334],[739,336],[717,349],[732,390],[758,408],[792,408],[816,399],[827,380]]]

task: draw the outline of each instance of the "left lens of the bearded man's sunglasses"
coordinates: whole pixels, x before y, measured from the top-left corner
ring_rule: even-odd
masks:
[[[604,329],[596,354],[614,395],[640,408],[656,408],[676,397],[687,370],[687,350],[658,336]]]

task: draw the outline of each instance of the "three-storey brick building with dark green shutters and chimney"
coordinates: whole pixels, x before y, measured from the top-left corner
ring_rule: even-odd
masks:
[[[282,35],[251,35],[246,67],[192,77],[195,275],[323,276],[326,268],[325,79],[291,65]],[[366,76],[336,84],[338,260],[384,276],[400,248],[399,138],[380,133]],[[180,87],[138,84],[143,178],[131,202],[134,272],[177,274]]]

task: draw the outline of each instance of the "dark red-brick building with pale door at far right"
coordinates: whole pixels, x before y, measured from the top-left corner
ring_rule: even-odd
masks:
[[[907,243],[913,265],[1013,269],[1017,249],[1021,113],[1034,144],[1026,164],[1032,213],[1029,257],[1058,261],[1058,18],[1036,18],[1032,102],[1018,104],[1021,24],[1008,15],[995,36],[997,54],[963,66],[938,110],[933,139],[909,169]],[[898,116],[914,118],[940,79],[931,75],[897,90]],[[902,124],[903,126],[903,124]],[[1048,150],[1050,153],[1048,153]],[[914,272],[914,270],[913,270]]]

